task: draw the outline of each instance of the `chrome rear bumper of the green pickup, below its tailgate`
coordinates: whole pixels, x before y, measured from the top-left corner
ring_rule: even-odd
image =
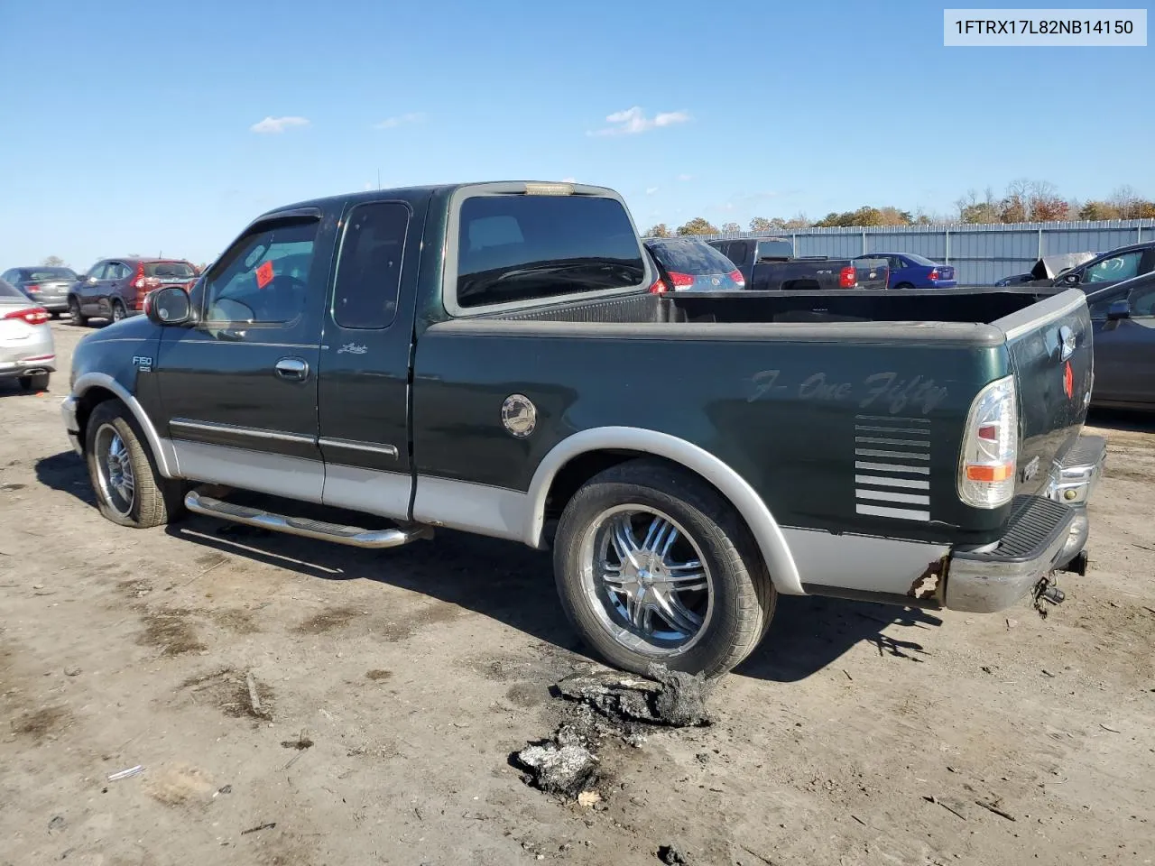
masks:
[[[1105,439],[1080,436],[1055,466],[1043,495],[1015,498],[1001,539],[952,551],[945,606],[973,613],[1001,611],[1079,557],[1090,535],[1087,501],[1105,460]]]

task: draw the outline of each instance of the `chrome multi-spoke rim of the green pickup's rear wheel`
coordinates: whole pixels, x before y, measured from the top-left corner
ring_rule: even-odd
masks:
[[[670,515],[643,505],[609,508],[586,530],[581,557],[586,598],[623,647],[676,656],[706,633],[714,578],[698,543]]]

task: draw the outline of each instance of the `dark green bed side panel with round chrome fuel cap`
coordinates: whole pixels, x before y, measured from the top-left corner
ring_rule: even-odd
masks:
[[[837,337],[827,331],[827,339],[815,338],[814,328],[805,339],[783,338],[791,326],[575,324],[546,335],[501,324],[456,321],[423,333],[413,382],[419,475],[526,491],[566,436],[632,426],[716,455],[783,527],[984,543],[1006,517],[1005,509],[966,507],[956,494],[971,400],[1006,374],[1005,346],[989,333],[953,343],[856,342],[845,329]],[[977,334],[984,326],[974,327]],[[537,428],[526,439],[501,424],[511,394],[537,408]],[[912,445],[863,441],[879,436],[872,428]],[[918,433],[901,433],[908,428]],[[863,454],[892,449],[889,457]],[[856,486],[859,465],[887,462],[926,466],[929,505],[918,507],[925,518],[862,512],[869,503]]]

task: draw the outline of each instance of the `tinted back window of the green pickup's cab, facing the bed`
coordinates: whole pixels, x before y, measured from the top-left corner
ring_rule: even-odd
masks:
[[[646,266],[625,208],[578,195],[479,195],[461,204],[456,303],[517,301],[641,288]]]

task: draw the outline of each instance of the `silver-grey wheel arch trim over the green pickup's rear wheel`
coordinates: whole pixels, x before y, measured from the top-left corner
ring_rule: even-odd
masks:
[[[775,588],[787,595],[805,595],[785,536],[754,488],[703,448],[669,433],[640,427],[594,427],[556,445],[538,464],[530,481],[524,542],[532,547],[542,545],[547,500],[559,479],[565,485],[561,492],[572,494],[602,469],[633,456],[662,457],[715,487],[750,528]],[[575,472],[575,466],[580,471]]]

